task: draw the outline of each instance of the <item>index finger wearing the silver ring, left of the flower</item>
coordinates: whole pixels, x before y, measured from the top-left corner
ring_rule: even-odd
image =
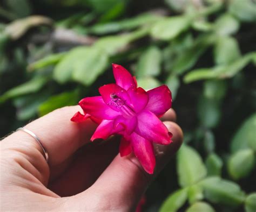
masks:
[[[84,123],[73,123],[70,118],[79,111],[79,106],[57,109],[25,126],[35,133],[41,140],[49,154],[49,164],[54,166],[68,159],[80,146],[89,142],[96,124],[87,119]],[[35,138],[23,131],[17,131],[5,138],[9,141],[6,145],[17,146],[29,143],[31,148],[40,151],[42,148],[36,143]],[[22,142],[17,142],[22,141]],[[33,149],[26,152],[30,154]],[[23,150],[22,150],[23,151]]]

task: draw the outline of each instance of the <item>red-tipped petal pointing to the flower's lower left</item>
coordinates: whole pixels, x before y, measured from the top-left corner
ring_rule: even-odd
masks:
[[[99,124],[98,128],[93,133],[91,140],[93,141],[98,138],[107,139],[114,133],[117,133],[122,130],[123,130],[122,125],[118,125],[116,128],[114,128],[113,120],[103,120],[102,123]]]

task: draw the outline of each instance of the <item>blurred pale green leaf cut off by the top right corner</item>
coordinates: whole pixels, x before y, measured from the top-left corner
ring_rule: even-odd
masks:
[[[256,21],[256,3],[251,0],[233,0],[228,5],[230,11],[235,17],[242,22]]]

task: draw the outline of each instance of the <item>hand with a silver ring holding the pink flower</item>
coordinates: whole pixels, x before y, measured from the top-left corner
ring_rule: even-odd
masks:
[[[1,211],[134,211],[183,140],[170,109],[163,120],[173,143],[154,145],[157,164],[149,175],[132,154],[120,157],[119,137],[91,143],[97,125],[90,120],[71,122],[78,110],[60,108],[25,126],[48,150],[49,164],[28,133],[17,131],[0,142]]]

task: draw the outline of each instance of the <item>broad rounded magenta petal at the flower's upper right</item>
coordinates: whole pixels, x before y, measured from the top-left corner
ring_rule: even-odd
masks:
[[[172,94],[165,85],[147,91],[147,95],[149,95],[149,102],[145,109],[157,116],[163,115],[172,106]]]

